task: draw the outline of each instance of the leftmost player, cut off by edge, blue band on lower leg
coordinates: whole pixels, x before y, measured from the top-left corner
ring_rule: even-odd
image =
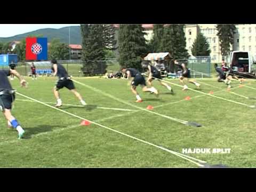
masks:
[[[18,131],[18,138],[21,139],[25,131],[11,113],[12,103],[15,100],[15,90],[12,89],[8,80],[7,76],[10,75],[18,77],[21,86],[26,86],[25,79],[15,69],[0,70],[0,110],[3,112],[8,126],[16,129]]]

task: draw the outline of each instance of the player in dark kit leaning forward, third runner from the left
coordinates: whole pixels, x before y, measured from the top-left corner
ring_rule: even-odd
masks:
[[[140,95],[136,90],[138,85],[141,85],[143,92],[153,92],[158,95],[158,91],[155,89],[155,87],[148,88],[146,86],[145,78],[137,69],[123,67],[122,72],[127,74],[128,79],[133,77],[131,82],[131,90],[136,95],[137,100],[135,102],[142,102],[142,99],[140,98]]]

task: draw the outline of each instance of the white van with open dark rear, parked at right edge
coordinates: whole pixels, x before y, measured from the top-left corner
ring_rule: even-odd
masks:
[[[229,67],[234,73],[252,74],[256,73],[256,63],[250,52],[233,51],[230,53]]]

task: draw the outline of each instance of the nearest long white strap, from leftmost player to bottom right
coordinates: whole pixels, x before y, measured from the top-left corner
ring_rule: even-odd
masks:
[[[158,149],[162,149],[162,150],[164,150],[164,151],[167,151],[167,152],[169,152],[169,153],[171,153],[171,154],[173,154],[173,155],[176,155],[176,156],[178,156],[178,157],[180,157],[180,158],[186,159],[187,161],[189,161],[189,162],[191,162],[191,163],[194,163],[194,164],[196,164],[197,166],[203,167],[204,165],[202,165],[202,164],[200,164],[200,163],[206,163],[205,161],[202,161],[202,160],[200,160],[200,159],[196,159],[196,158],[194,158],[194,157],[190,157],[190,156],[187,156],[187,155],[180,154],[180,153],[178,153],[178,152],[172,151],[172,150],[170,150],[170,149],[167,149],[167,148],[164,148],[164,147],[161,147],[161,146],[157,146],[157,145],[155,145],[155,144],[153,144],[153,143],[150,143],[150,142],[148,142],[148,141],[145,141],[145,140],[142,140],[142,139],[139,139],[139,138],[135,138],[135,137],[133,137],[133,136],[131,136],[131,135],[129,135],[129,134],[126,134],[126,133],[123,133],[123,132],[120,132],[120,131],[116,131],[116,130],[111,129],[110,127],[107,127],[107,126],[105,126],[105,125],[101,125],[101,124],[99,124],[99,123],[95,123],[95,122],[93,122],[93,121],[90,121],[89,119],[85,119],[85,118],[80,117],[80,116],[78,116],[78,115],[69,113],[69,112],[67,112],[67,111],[65,111],[65,110],[62,110],[62,109],[59,109],[59,108],[50,106],[50,105],[48,105],[47,103],[44,103],[44,102],[42,102],[42,101],[39,101],[39,100],[30,98],[30,97],[28,97],[28,96],[26,96],[26,95],[23,95],[23,94],[19,93],[19,92],[16,92],[16,93],[17,93],[18,95],[20,95],[21,97],[24,97],[24,98],[27,98],[27,99],[36,101],[36,102],[38,102],[38,103],[41,103],[41,104],[44,105],[44,106],[47,106],[47,107],[50,107],[50,108],[52,108],[52,109],[61,111],[62,113],[68,114],[68,115],[70,115],[70,116],[73,116],[73,117],[76,117],[76,118],[79,118],[79,119],[82,119],[82,120],[85,120],[85,121],[88,121],[88,122],[90,122],[90,123],[92,123],[92,124],[98,125],[98,126],[103,127],[103,128],[105,128],[105,129],[107,129],[107,130],[110,130],[110,131],[113,131],[113,132],[116,132],[116,133],[125,135],[126,137],[129,137],[129,138],[132,138],[132,139],[134,139],[134,140],[137,140],[137,141],[146,143],[147,145],[154,146],[154,147],[156,147],[156,148],[158,148]],[[197,161],[197,162],[199,162],[199,163],[197,163],[197,162],[195,162],[195,161],[193,161],[193,160],[191,160],[191,159],[193,159],[193,160],[195,160],[195,161]]]

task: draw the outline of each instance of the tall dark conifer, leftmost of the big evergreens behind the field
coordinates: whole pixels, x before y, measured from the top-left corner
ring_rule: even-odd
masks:
[[[82,71],[84,74],[93,75],[99,73],[106,73],[106,42],[103,38],[104,34],[103,25],[81,25],[82,34]],[[106,37],[106,36],[105,36]],[[109,44],[108,44],[109,45]]]

